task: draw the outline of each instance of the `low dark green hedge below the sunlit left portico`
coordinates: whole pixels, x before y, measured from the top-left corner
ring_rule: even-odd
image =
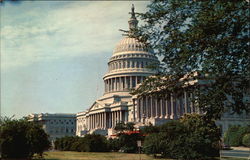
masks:
[[[108,142],[104,136],[98,134],[87,134],[84,137],[66,136],[56,139],[55,149],[61,151],[105,152],[108,151]]]

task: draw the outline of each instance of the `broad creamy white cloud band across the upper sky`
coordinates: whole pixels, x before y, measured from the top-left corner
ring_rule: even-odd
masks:
[[[42,5],[45,2],[34,2]],[[50,3],[50,2],[47,2]],[[29,3],[20,4],[28,5]],[[24,22],[1,29],[2,68],[29,65],[36,61],[112,52],[119,39],[119,28],[126,29],[130,2],[74,2],[61,8],[35,8],[18,16]],[[135,2],[138,12],[146,2]],[[7,10],[7,8],[6,8]],[[3,10],[5,12],[5,10]]]

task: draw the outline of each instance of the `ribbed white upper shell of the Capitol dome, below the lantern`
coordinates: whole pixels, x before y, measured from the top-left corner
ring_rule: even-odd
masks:
[[[147,47],[136,38],[125,37],[115,47],[113,55],[120,52],[127,51],[144,51],[148,52]]]

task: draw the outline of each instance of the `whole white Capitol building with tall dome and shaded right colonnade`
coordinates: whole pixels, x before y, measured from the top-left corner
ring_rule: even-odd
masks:
[[[169,99],[154,97],[139,99],[129,93],[130,89],[157,72],[147,66],[159,63],[152,50],[133,38],[133,31],[138,24],[134,6],[130,14],[128,34],[115,46],[108,62],[108,73],[103,77],[104,95],[89,109],[76,114],[78,136],[88,133],[112,135],[114,127],[119,122],[134,122],[139,128],[150,123],[158,125],[170,119],[178,119],[184,113],[201,113],[189,100],[192,96],[190,93],[185,92],[180,97],[171,96]],[[250,116],[247,115],[225,114],[224,119],[217,121],[217,125],[222,132],[225,132],[230,125],[244,125],[249,119]]]

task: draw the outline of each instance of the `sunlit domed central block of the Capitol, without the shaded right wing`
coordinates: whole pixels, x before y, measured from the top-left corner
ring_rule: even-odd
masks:
[[[103,77],[104,95],[87,111],[77,113],[78,136],[93,132],[110,135],[117,123],[134,122],[137,118],[130,89],[155,74],[156,71],[147,66],[159,61],[149,48],[131,37],[138,24],[134,6],[128,23],[128,35],[116,45],[109,59],[108,73]]]

